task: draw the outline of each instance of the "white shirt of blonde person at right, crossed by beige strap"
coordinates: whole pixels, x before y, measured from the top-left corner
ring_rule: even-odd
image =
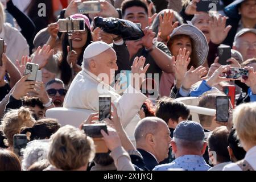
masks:
[[[246,152],[245,160],[256,170],[256,146]],[[236,163],[231,163],[226,165],[223,171],[242,171],[242,169]]]

